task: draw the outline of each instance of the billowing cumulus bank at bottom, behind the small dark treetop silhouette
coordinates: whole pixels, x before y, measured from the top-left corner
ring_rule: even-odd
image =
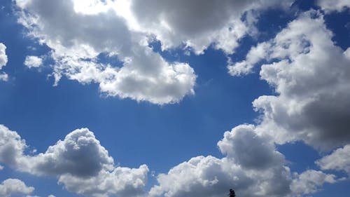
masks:
[[[197,156],[158,175],[150,196],[225,196],[234,188],[239,196],[302,196],[314,193],[334,175],[308,170],[291,173],[273,139],[258,135],[254,125],[239,125],[226,132],[218,147],[226,156]]]

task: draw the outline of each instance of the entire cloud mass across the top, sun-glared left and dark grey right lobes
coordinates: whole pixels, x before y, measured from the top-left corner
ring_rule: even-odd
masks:
[[[102,93],[155,104],[179,102],[194,93],[196,75],[186,62],[167,62],[149,46],[209,46],[234,53],[254,25],[253,11],[286,8],[292,1],[29,1],[17,0],[20,24],[52,49],[55,85],[62,76],[98,83]],[[244,20],[242,19],[244,18]],[[99,62],[117,57],[123,65]]]

